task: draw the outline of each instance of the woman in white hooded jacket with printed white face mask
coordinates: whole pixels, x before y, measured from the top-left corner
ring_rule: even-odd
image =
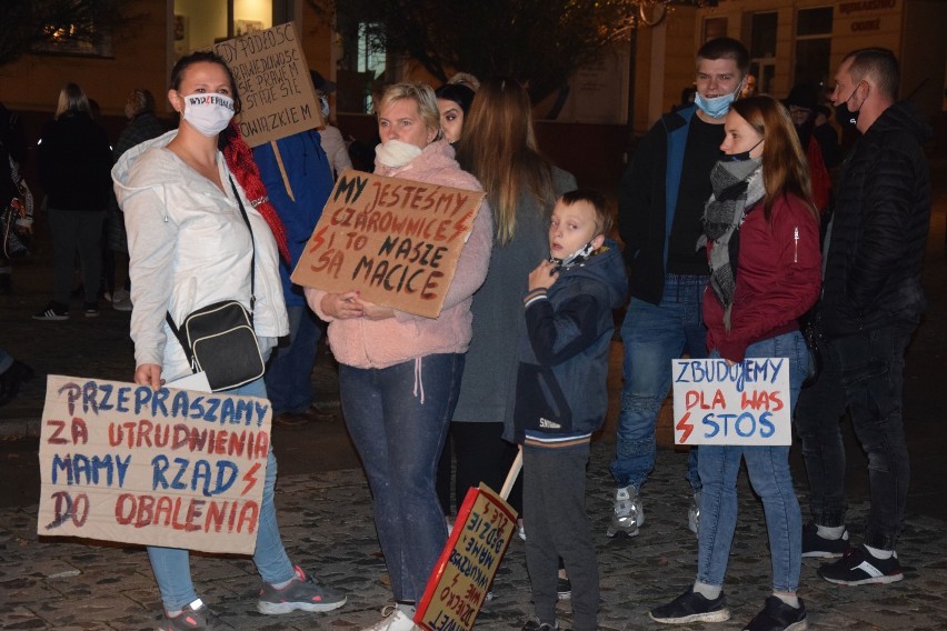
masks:
[[[167,316],[181,322],[201,307],[239,300],[252,310],[263,358],[289,332],[277,271],[279,256],[288,257],[286,236],[275,211],[253,203],[263,189],[231,124],[240,97],[230,69],[212,52],[183,57],[168,100],[181,114],[178,129],[128,150],[112,169],[129,237],[134,382],[153,389],[191,374]],[[262,378],[225,392],[267,397]],[[257,610],[337,609],[346,597],[293,567],[283,549],[276,474],[270,450],[253,553],[263,580]],[[149,547],[148,557],[165,605],[158,629],[231,629],[198,598],[187,550]]]

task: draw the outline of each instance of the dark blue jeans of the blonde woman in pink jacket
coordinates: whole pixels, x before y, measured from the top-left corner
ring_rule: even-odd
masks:
[[[371,488],[397,601],[423,595],[447,541],[435,477],[462,373],[459,353],[381,369],[339,367],[342,414]]]

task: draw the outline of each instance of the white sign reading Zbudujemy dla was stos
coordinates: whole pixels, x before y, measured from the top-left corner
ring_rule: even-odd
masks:
[[[676,444],[793,444],[787,358],[679,359],[672,370]]]

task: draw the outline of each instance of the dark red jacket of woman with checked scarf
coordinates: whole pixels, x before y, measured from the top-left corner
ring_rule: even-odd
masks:
[[[717,294],[704,292],[707,348],[731,361],[742,361],[752,343],[797,330],[797,318],[816,303],[821,287],[819,226],[798,198],[780,196],[768,224],[762,201],[754,206],[739,239],[729,333]]]

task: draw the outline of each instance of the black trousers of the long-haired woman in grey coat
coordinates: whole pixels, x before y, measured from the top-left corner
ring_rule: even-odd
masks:
[[[451,440],[445,443],[437,469],[437,494],[443,514],[455,512],[450,508],[451,453],[457,459],[457,509],[463,503],[467,490],[476,489],[480,482],[500,492],[518,451],[515,444],[501,438],[502,434],[504,423],[450,423]],[[507,502],[522,517],[522,475],[517,478]]]

